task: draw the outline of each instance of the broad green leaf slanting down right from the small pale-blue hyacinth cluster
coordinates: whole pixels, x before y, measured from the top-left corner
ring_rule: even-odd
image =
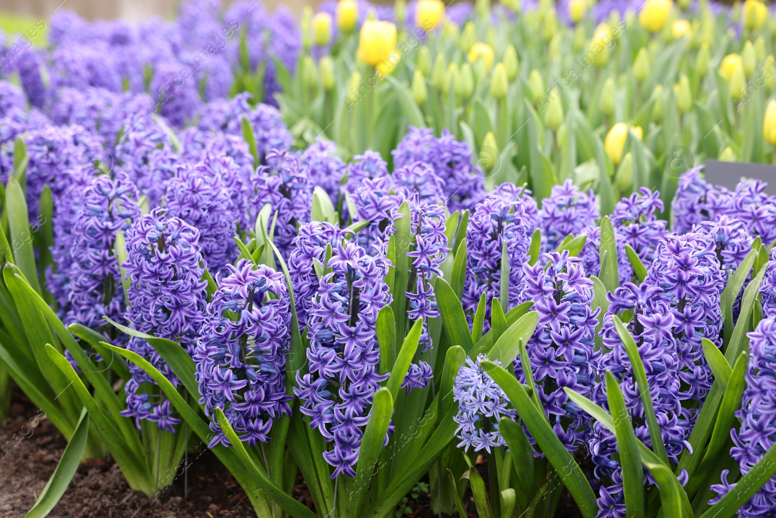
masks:
[[[539,408],[536,408],[531,399],[528,398],[528,394],[515,379],[514,374],[509,374],[506,370],[489,361],[483,362],[482,367],[501,387],[514,408],[517,409],[520,419],[525,422],[525,426],[528,427],[536,440],[536,444],[556,468],[558,476],[577,502],[582,516],[595,516],[598,513],[598,504],[593,489],[577,461],[563,447],[563,443],[553,432],[553,427],[550,426],[546,415],[540,412]]]

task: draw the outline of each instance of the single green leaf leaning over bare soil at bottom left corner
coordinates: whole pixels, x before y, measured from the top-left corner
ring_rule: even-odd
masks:
[[[86,408],[81,410],[81,417],[75,426],[75,432],[68,441],[68,446],[64,447],[62,457],[57,463],[57,468],[46,482],[43,491],[40,492],[32,509],[29,509],[24,518],[43,518],[54,509],[59,499],[64,495],[65,490],[70,485],[70,481],[78,471],[81,464],[81,457],[86,450],[86,439],[89,433],[89,418]]]

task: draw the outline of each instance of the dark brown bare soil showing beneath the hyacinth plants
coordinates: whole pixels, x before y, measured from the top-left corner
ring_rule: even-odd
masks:
[[[9,417],[0,426],[0,518],[24,516],[54,472],[66,441],[35,405],[18,390],[12,395]],[[183,497],[180,477],[158,499],[148,499],[127,487],[116,463],[90,459],[81,464],[68,491],[49,516],[54,518],[249,518],[255,516],[240,485],[210,452],[191,461],[189,495]],[[487,477],[487,470],[480,473]],[[312,506],[303,481],[294,497]],[[470,492],[466,510],[476,518]],[[399,516],[432,518],[430,495],[405,504],[412,510]],[[557,518],[580,516],[564,495]],[[392,517],[393,518],[393,517]]]

